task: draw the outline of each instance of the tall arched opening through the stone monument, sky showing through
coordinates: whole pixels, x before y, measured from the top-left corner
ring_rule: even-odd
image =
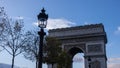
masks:
[[[69,50],[72,56],[72,68],[85,68],[84,52],[78,47],[73,47]]]

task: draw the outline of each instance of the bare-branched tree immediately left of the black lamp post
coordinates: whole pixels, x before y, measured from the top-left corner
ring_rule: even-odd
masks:
[[[28,31],[26,33],[26,38],[28,38],[26,45],[22,48],[23,55],[26,59],[31,61],[36,61],[36,68],[38,68],[38,46],[39,46],[39,36],[36,31]]]

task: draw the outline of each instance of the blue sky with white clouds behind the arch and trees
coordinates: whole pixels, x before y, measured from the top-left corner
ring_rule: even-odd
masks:
[[[49,29],[103,23],[108,38],[108,67],[120,68],[120,0],[0,0],[0,7],[5,8],[9,17],[24,19],[28,30],[36,27],[34,24],[42,7],[49,14]],[[0,63],[10,64],[10,58],[5,51],[0,53]],[[22,55],[17,56],[15,62],[22,67],[35,66]],[[75,64],[77,68],[78,62]]]

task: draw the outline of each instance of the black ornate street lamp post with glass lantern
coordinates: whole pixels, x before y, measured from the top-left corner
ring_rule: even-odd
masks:
[[[40,36],[40,43],[39,43],[39,52],[38,52],[38,68],[42,68],[42,57],[43,57],[43,39],[46,33],[44,32],[44,28],[46,28],[47,25],[47,19],[48,14],[45,13],[44,8],[41,10],[41,13],[39,13],[38,17],[38,27],[41,28],[40,31],[38,31],[38,34]]]

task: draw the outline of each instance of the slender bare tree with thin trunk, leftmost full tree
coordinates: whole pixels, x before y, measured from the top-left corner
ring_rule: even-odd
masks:
[[[20,21],[12,22],[12,24],[9,24],[9,27],[8,27],[9,30],[8,30],[8,32],[6,32],[7,34],[6,34],[6,36],[3,37],[3,40],[2,40],[2,47],[10,55],[12,55],[11,68],[14,68],[15,57],[22,53],[21,47],[27,41],[27,39],[24,38],[22,28],[23,28],[23,26]]]

